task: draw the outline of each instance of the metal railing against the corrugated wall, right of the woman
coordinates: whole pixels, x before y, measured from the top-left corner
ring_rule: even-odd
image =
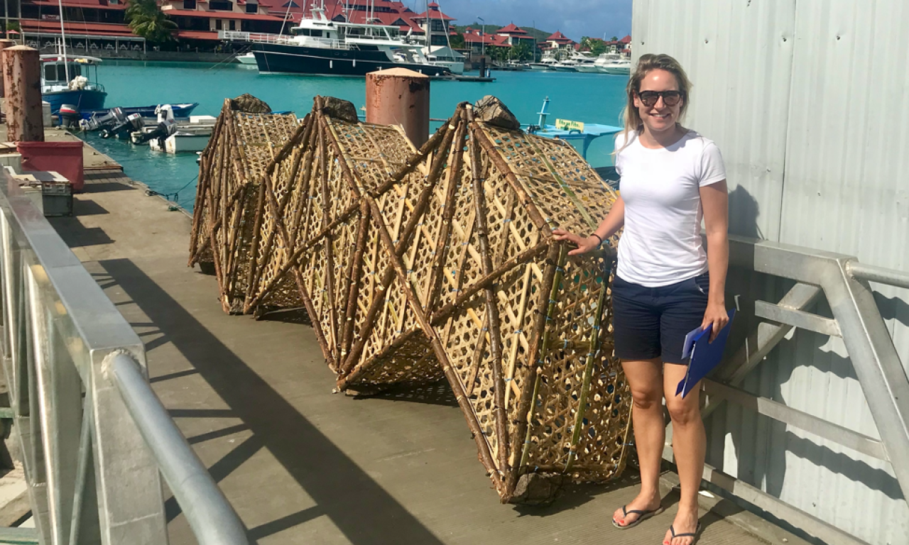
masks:
[[[909,287],[909,274],[865,265],[849,255],[736,236],[729,238],[729,256],[731,268],[760,272],[795,283],[778,303],[754,302],[754,316],[761,322],[747,335],[744,345],[704,381],[704,390],[714,399],[708,399],[702,416],[706,418],[716,409],[719,403],[715,398],[738,403],[776,421],[889,462],[900,488],[909,495],[909,377],[874,300],[874,293],[867,282],[862,282]],[[832,319],[807,312],[814,302],[824,297]],[[736,388],[794,328],[842,337],[855,376],[865,392],[880,441]],[[664,448],[664,458],[668,461],[673,461],[671,436],[670,426]],[[826,542],[864,543],[709,465],[704,466],[704,481]]]

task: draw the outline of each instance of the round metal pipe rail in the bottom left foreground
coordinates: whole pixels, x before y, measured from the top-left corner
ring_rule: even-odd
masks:
[[[127,411],[152,450],[199,544],[248,543],[243,522],[167,414],[139,365],[126,353],[111,354],[108,364]]]

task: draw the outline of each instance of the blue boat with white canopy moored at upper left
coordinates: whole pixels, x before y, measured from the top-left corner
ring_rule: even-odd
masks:
[[[97,83],[98,64],[101,59],[84,55],[41,55],[41,98],[51,104],[51,114],[59,114],[63,104],[72,104],[80,112],[105,107],[107,93]],[[91,79],[93,66],[95,77]]]

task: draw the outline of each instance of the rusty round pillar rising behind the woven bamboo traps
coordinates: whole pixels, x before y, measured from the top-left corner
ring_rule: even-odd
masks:
[[[366,123],[397,124],[416,147],[429,139],[429,76],[406,68],[366,74]]]

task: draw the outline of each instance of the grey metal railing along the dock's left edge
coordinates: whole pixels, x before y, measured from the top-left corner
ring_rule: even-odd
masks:
[[[132,326],[5,172],[0,320],[37,542],[166,544],[163,473],[200,543],[248,543],[146,381]]]

